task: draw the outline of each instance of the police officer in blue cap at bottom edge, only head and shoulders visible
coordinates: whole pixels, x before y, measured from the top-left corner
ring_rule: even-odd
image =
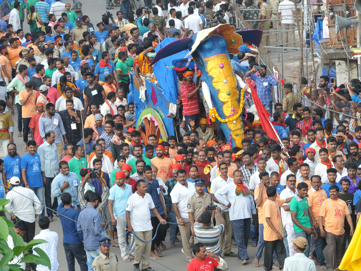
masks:
[[[108,237],[99,239],[100,255],[92,263],[93,271],[118,271],[118,258],[109,253],[110,245]]]

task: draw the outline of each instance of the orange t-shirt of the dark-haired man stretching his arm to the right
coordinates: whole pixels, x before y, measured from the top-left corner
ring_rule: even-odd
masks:
[[[276,198],[275,201],[267,199],[263,205],[265,220],[266,218],[270,218],[273,226],[282,236],[284,235],[279,207],[282,206],[285,202],[286,199]],[[263,227],[263,239],[265,241],[275,241],[278,239],[276,233],[273,231],[273,229],[271,229],[267,222],[263,224]]]

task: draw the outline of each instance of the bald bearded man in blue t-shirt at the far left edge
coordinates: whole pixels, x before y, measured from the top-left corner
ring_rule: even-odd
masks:
[[[3,170],[3,183],[4,180],[8,180],[7,185],[10,184],[10,178],[13,176],[21,179],[21,157],[16,155],[16,145],[11,143],[8,145],[8,155],[4,157],[4,170]],[[5,183],[4,183],[5,185]],[[6,189],[5,189],[6,190]]]

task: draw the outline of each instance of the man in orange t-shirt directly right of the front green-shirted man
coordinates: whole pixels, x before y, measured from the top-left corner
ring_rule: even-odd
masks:
[[[315,250],[319,265],[321,266],[321,268],[326,268],[326,261],[325,261],[325,257],[323,256],[323,249],[326,248],[327,243],[326,243],[326,238],[321,237],[321,233],[319,231],[318,214],[322,202],[324,202],[327,199],[327,194],[325,190],[320,189],[321,178],[319,176],[312,176],[311,185],[312,185],[311,189],[308,190],[308,205],[309,205],[309,210],[310,212],[312,212],[314,218],[314,221],[312,222],[316,227],[316,233],[317,233],[317,239],[315,240]]]

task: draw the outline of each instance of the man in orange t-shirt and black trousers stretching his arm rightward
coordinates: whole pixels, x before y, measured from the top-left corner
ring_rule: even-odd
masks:
[[[283,226],[281,220],[281,212],[279,207],[284,203],[288,203],[292,198],[278,199],[277,189],[275,186],[268,186],[268,199],[263,205],[263,212],[266,219],[264,224],[263,237],[265,240],[265,259],[264,270],[272,270],[273,251],[275,251],[279,268],[283,268],[284,259],[286,258],[286,248],[283,244]]]

